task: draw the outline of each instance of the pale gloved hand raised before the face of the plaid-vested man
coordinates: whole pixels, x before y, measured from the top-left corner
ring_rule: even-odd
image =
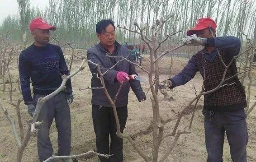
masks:
[[[182,44],[186,46],[205,46],[207,44],[207,38],[188,36],[182,39]]]

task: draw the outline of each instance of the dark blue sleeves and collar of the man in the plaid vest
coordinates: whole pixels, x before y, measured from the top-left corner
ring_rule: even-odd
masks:
[[[241,42],[239,38],[232,37],[232,36],[214,37],[214,38],[208,38],[207,46],[223,48],[226,51],[228,51],[229,54],[232,55],[231,57],[233,57],[239,54]],[[217,49],[214,49],[213,51],[211,51],[211,53],[205,53],[204,58],[209,62],[213,62],[213,60],[217,55],[218,55]],[[171,81],[173,84],[171,88],[184,85],[185,83],[193,79],[194,75],[198,71],[199,69],[196,66],[194,55],[193,55],[188,61],[187,65],[184,67],[184,69],[179,74],[171,78]]]

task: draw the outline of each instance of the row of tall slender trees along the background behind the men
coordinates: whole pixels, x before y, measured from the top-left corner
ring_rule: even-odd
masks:
[[[136,30],[137,21],[141,26],[152,26],[156,19],[164,19],[175,13],[165,23],[159,37],[181,31],[166,43],[167,48],[185,36],[188,28],[201,17],[212,17],[218,25],[218,35],[232,35],[243,40],[242,32],[256,42],[256,2],[254,0],[49,0],[44,9],[33,8],[29,0],[17,0],[19,15],[8,15],[0,31],[10,32],[14,42],[32,41],[28,37],[28,23],[41,16],[57,26],[53,32],[60,40],[75,41],[77,47],[97,42],[95,24],[100,19],[113,19],[116,25]],[[141,43],[139,37],[119,28],[117,40],[121,43]],[[145,30],[146,36],[152,34]],[[171,44],[170,44],[171,43]]]

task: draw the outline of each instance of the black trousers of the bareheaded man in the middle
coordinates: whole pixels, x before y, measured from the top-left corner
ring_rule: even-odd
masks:
[[[128,117],[127,106],[118,107],[121,132],[123,132]],[[123,139],[116,135],[116,123],[112,107],[92,105],[92,119],[96,135],[97,152],[113,154],[109,159],[99,157],[100,162],[123,162]],[[110,134],[110,147],[109,147]]]

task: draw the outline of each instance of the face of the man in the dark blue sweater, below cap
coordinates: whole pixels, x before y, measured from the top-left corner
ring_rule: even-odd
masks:
[[[35,28],[32,32],[35,42],[41,45],[47,45],[50,39],[50,31]]]

